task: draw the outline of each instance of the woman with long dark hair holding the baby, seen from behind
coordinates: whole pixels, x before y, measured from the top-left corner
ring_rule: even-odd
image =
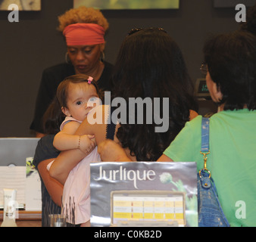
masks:
[[[197,110],[197,104],[183,55],[164,29],[136,29],[130,33],[121,45],[112,80],[113,98],[126,101],[127,118],[121,118],[117,124],[113,121],[113,115],[118,107],[115,110],[114,105],[103,106],[104,108],[100,106],[102,113],[99,116],[111,117],[112,123],[91,124],[88,116],[77,129],[76,135],[95,135],[97,144],[106,138],[114,139],[126,150],[130,160],[157,160],[185,123],[197,115],[193,111]],[[134,113],[131,112],[134,110],[131,108],[130,98],[150,98],[151,115],[143,115],[142,120],[135,116],[133,123],[130,123],[130,113]],[[167,109],[163,108],[164,98],[168,100]],[[160,110],[154,107],[155,100],[160,102]],[[135,107],[136,113],[146,114],[148,111],[136,108],[139,107]],[[167,123],[167,131],[155,132],[155,128],[159,126],[156,120],[161,119],[164,113],[168,113],[167,120],[164,120]],[[98,116],[97,112],[96,114]],[[152,122],[148,122],[148,119]],[[80,150],[61,152],[52,164],[50,174],[64,183],[70,170],[83,157],[84,154]]]

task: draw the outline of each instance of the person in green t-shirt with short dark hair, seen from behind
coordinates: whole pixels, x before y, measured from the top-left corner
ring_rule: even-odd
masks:
[[[236,31],[204,45],[201,70],[218,112],[210,118],[207,169],[231,226],[256,225],[256,38]],[[186,123],[159,161],[195,161],[200,154],[201,116]]]

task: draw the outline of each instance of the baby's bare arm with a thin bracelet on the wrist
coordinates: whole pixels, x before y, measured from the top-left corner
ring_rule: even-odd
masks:
[[[80,123],[70,121],[66,123],[61,132],[55,135],[53,145],[58,150],[80,149],[83,152],[90,152],[95,147],[93,135],[73,135]]]

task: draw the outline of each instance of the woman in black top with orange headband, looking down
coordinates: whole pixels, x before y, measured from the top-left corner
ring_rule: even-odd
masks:
[[[108,20],[94,8],[72,8],[58,17],[58,30],[67,44],[66,62],[49,67],[42,73],[36,110],[30,129],[37,137],[44,134],[42,116],[55,96],[59,83],[67,76],[86,74],[97,81],[103,91],[111,91],[113,65],[104,61],[105,33]]]

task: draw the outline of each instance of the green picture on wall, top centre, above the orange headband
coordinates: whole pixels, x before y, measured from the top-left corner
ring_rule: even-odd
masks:
[[[73,0],[73,8],[104,9],[178,9],[180,0]]]

